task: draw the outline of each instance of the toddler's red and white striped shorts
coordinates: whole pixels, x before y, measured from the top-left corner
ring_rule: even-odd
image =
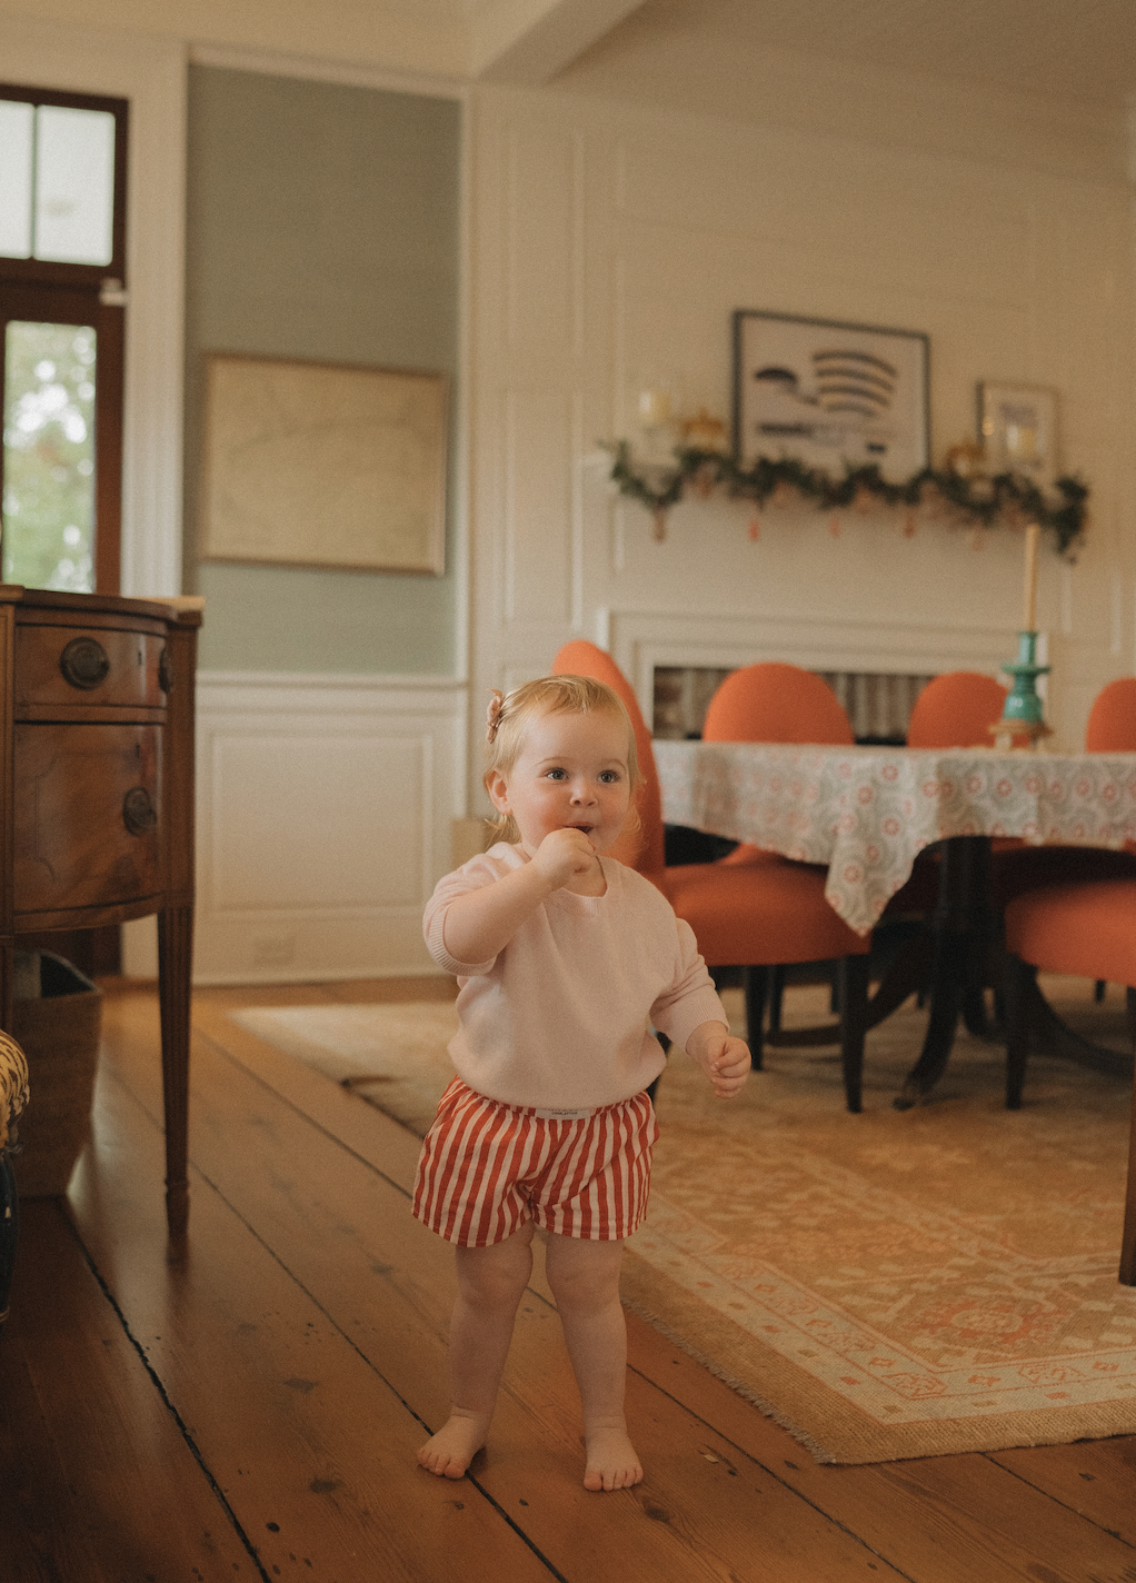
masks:
[[[647,1213],[657,1135],[647,1094],[563,1121],[454,1078],[422,1143],[413,1213],[462,1247],[503,1243],[525,1220],[615,1243]]]

